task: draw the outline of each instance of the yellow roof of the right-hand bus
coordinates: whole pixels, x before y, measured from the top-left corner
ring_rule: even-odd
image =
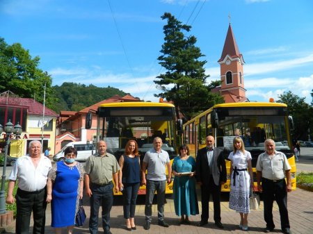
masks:
[[[207,112],[211,112],[211,110],[215,108],[232,108],[232,107],[287,107],[284,103],[276,103],[276,102],[257,102],[257,101],[247,101],[247,102],[236,102],[236,103],[222,103],[222,104],[216,104],[215,106],[212,106],[208,110],[204,110],[201,114],[193,117],[191,120],[186,122],[184,125],[189,124],[190,122],[193,122],[195,119],[198,119],[202,117],[203,115],[206,115]]]

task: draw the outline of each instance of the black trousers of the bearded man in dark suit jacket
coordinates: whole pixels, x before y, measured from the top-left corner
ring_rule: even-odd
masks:
[[[207,222],[209,219],[210,196],[212,196],[214,203],[214,222],[220,222],[220,185],[214,183],[212,176],[209,178],[208,185],[201,185],[202,222]]]

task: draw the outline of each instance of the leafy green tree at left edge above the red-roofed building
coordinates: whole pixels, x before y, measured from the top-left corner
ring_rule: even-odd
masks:
[[[43,103],[46,84],[47,107],[54,109],[57,98],[51,87],[52,79],[38,68],[40,58],[31,58],[29,50],[19,43],[8,45],[0,37],[0,92],[11,92],[19,97],[35,97]]]

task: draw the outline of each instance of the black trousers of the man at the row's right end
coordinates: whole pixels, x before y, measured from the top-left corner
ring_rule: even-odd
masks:
[[[263,201],[264,201],[264,220],[267,228],[275,228],[273,222],[273,202],[276,200],[280,210],[280,225],[282,230],[290,228],[287,210],[287,190],[286,181],[270,181],[262,178]]]

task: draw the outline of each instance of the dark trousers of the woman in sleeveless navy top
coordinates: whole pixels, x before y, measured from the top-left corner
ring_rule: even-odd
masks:
[[[135,217],[136,200],[140,183],[125,183],[123,191],[124,218]]]

